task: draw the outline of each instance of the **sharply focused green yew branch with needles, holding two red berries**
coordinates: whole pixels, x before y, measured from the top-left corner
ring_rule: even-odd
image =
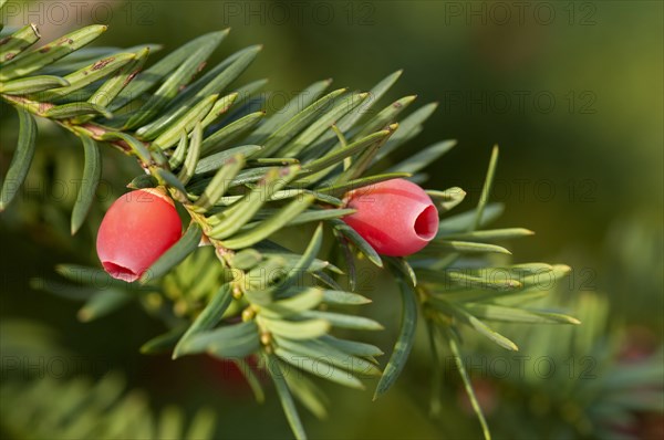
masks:
[[[381,258],[340,220],[352,212],[340,199],[345,191],[395,177],[422,181],[426,176],[421,171],[455,145],[437,143],[385,167],[384,159],[419,134],[436,107],[425,105],[398,123],[414,96],[377,107],[401,72],[360,93],[325,92],[330,81],[318,82],[284,109],[268,114],[256,108],[261,102],[256,93],[264,82],[234,85],[260,46],[239,51],[196,78],[228,31],[199,36],[149,65],[147,45],[83,48],[105,30],[87,27],[40,49],[31,49],[39,36],[34,27],[3,38],[9,50],[1,64],[0,96],[17,108],[20,124],[0,209],[28,172],[35,146],[34,118],[42,117],[75,134],[85,151],[72,233],[83,223],[101,178],[100,145],[135,157],[143,172],[128,186],[166,188],[188,212],[190,224],[136,284],[112,280],[97,269],[60,266],[63,276],[94,291],[81,318],[90,321],[139,300],[172,328],[147,342],[144,353],[167,349],[174,357],[208,353],[236,360],[260,355],[298,438],[304,430],[293,398],[317,416],[324,410],[315,385],[289,376],[284,373],[289,368],[353,388],[364,388],[365,376],[380,377],[377,398],[406,364],[418,315],[429,328],[438,328],[432,332],[433,345],[447,338],[453,350],[457,342],[452,335],[461,324],[516,349],[485,322],[578,323],[563,314],[522,307],[526,300],[548,290],[533,274],[557,279],[567,266],[477,269],[477,262],[466,261],[508,254],[490,242],[530,234],[523,229],[479,230],[501,211],[487,203],[497,148],[477,208],[445,216],[439,235],[413,258]],[[459,188],[428,193],[444,214],[465,196]],[[303,240],[309,244],[302,253],[273,241],[284,228],[308,222],[319,226]],[[332,231],[344,250],[347,286],[340,285],[341,269],[319,259],[324,230]],[[376,360],[380,348],[331,334],[333,328],[383,328],[349,308],[369,302],[353,292],[359,255],[388,271],[401,286],[401,331],[383,370]],[[498,271],[504,279],[496,279]],[[102,287],[100,280],[105,281]],[[49,290],[50,282],[40,283]],[[260,384],[252,384],[262,396]],[[469,384],[468,390],[473,392]]]

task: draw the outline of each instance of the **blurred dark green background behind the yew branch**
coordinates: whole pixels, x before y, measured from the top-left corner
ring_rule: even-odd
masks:
[[[100,22],[110,30],[98,44],[162,43],[165,53],[201,33],[230,27],[230,35],[211,62],[249,44],[264,44],[241,81],[269,78],[266,88],[277,92],[277,97],[268,101],[268,111],[282,105],[283,96],[293,96],[318,80],[333,77],[335,86],[367,90],[404,69],[388,99],[416,94],[414,108],[429,102],[438,102],[439,107],[398,157],[439,139],[458,139],[457,147],[428,169],[426,186],[464,188],[468,192],[464,207],[470,209],[480,191],[490,148],[498,144],[500,161],[492,199],[506,203],[507,210],[496,226],[520,226],[537,232],[511,245],[515,261],[570,264],[573,271],[560,289],[560,302],[592,295],[609,311],[605,334],[600,338],[636,352],[636,357],[662,349],[662,2],[10,3],[15,8],[6,9],[2,20],[13,25],[37,22],[44,41]],[[7,106],[0,108],[3,175],[15,142],[17,121]],[[167,356],[139,355],[138,347],[163,327],[138,306],[83,324],[76,321],[79,304],[31,289],[30,279],[55,276],[58,263],[97,264],[93,240],[103,209],[136,171],[131,160],[114,151],[105,154],[100,207],[84,230],[71,238],[69,214],[75,193],[59,182],[79,177],[82,151],[71,136],[55,127],[40,124],[40,129],[28,184],[19,200],[0,214],[0,316],[3,328],[14,328],[12,334],[2,333],[2,347],[20,346],[20,338],[31,334],[20,325],[39,323],[55,333],[59,345],[90,360],[81,374],[101,377],[120,370],[131,388],[145,391],[155,409],[166,404],[189,410],[208,405],[218,412],[220,438],[289,437],[272,392],[268,402],[259,406],[241,381],[234,381],[232,375],[210,363],[173,363]],[[388,329],[372,337],[388,352],[396,332],[397,311],[391,312],[396,296],[375,291],[373,298],[371,313],[384,316]],[[509,332],[519,343],[519,335],[530,331],[515,326]],[[583,334],[583,325],[575,332]],[[487,356],[505,355],[483,349],[481,345],[473,348]],[[522,354],[528,355],[528,346]],[[6,357],[3,354],[3,367],[8,367]],[[369,392],[326,387],[330,420],[305,417],[311,436],[478,438],[479,428],[459,397],[454,374],[445,384],[442,419],[427,416],[428,362],[426,348],[416,348],[404,378],[375,404]],[[556,416],[556,408],[530,401],[528,390],[515,397],[481,368],[477,370],[475,378],[496,437],[531,438],[532,432],[542,438],[560,432],[562,438],[581,436],[578,430],[562,429],[566,417]],[[567,398],[573,400],[572,395]],[[501,406],[513,408],[511,418],[491,411]],[[527,427],[532,415],[553,421],[530,427],[532,431]],[[656,438],[664,429],[661,413],[631,423],[639,438]],[[585,437],[598,436],[587,430]]]

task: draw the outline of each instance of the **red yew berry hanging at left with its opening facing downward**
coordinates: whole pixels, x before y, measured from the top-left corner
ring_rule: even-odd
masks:
[[[162,189],[138,189],[115,200],[102,220],[97,255],[115,279],[141,277],[181,235],[173,200]]]

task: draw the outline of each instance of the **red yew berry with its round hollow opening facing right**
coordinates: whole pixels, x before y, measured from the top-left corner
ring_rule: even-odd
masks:
[[[350,191],[344,201],[357,211],[343,221],[383,255],[411,255],[438,232],[438,210],[433,200],[405,179]]]

